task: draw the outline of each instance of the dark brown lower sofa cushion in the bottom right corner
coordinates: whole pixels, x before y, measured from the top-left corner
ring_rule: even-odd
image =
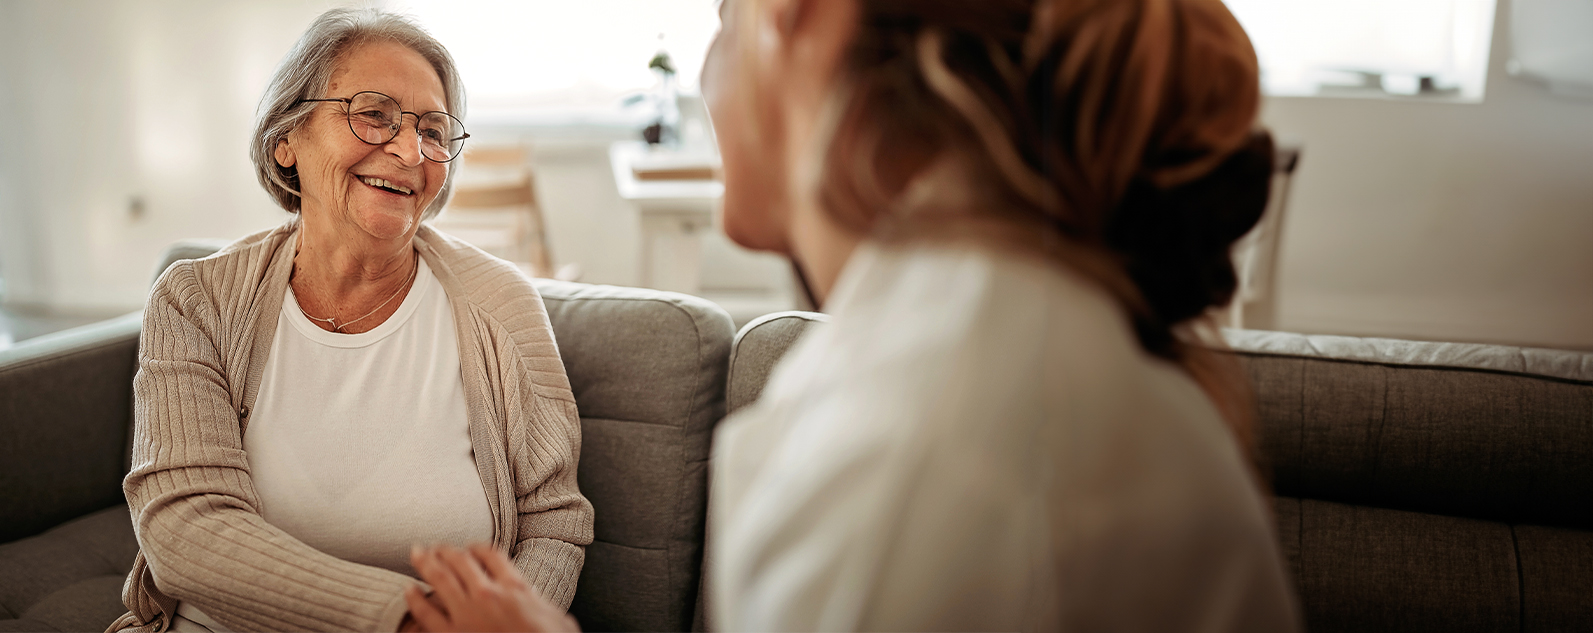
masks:
[[[1276,497],[1313,631],[1580,631],[1593,533]]]

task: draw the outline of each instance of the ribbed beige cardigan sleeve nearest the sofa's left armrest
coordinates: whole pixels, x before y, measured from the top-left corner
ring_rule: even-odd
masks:
[[[220,289],[215,292],[225,292]],[[406,606],[403,574],[322,553],[260,515],[242,448],[242,389],[226,367],[218,314],[177,263],[145,309],[134,378],[127,504],[158,590],[234,630],[392,631]]]

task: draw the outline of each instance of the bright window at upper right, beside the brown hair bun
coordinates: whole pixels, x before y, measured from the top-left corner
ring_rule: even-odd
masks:
[[[1481,100],[1494,0],[1225,0],[1273,96]]]

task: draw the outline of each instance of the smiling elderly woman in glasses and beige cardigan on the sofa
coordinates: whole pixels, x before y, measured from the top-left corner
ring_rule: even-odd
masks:
[[[112,630],[392,631],[438,542],[489,542],[569,606],[593,509],[542,298],[422,223],[464,107],[393,14],[328,11],[282,61],[252,156],[296,215],[178,261],[145,309]]]

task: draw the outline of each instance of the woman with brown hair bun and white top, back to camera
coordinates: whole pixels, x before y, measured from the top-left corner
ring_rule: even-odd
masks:
[[[715,625],[1290,631],[1235,289],[1271,142],[1220,0],[726,0],[726,233],[832,322],[714,437]],[[491,548],[432,630],[558,630]]]

